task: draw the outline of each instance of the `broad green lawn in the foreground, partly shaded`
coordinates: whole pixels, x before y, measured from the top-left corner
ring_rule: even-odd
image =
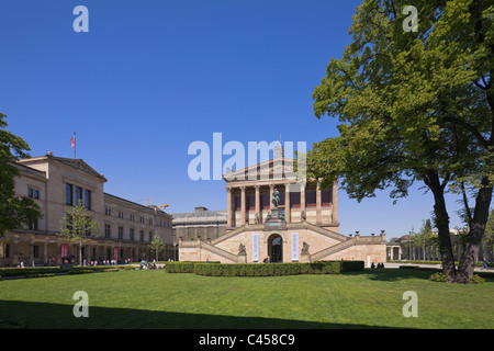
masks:
[[[164,270],[0,282],[0,328],[494,328],[494,281],[452,285],[430,272],[211,278]],[[76,318],[76,291],[89,318]],[[418,296],[405,318],[403,293]]]

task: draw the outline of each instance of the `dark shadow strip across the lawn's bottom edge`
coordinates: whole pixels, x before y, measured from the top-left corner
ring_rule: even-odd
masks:
[[[76,303],[76,302],[75,302]],[[262,317],[203,315],[89,306],[76,318],[74,305],[0,301],[1,329],[382,329],[389,327],[329,324]]]

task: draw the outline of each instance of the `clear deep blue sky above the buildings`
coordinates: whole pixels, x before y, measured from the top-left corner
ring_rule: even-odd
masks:
[[[224,181],[189,179],[189,145],[222,133],[224,144],[281,135],[312,148],[335,136],[336,121],[314,116],[312,92],[350,43],[359,3],[2,0],[0,111],[32,156],[74,157],[76,132],[77,157],[105,174],[109,193],[169,213],[225,210]],[[72,29],[79,4],[88,33]],[[397,237],[431,210],[418,185],[396,205],[385,192],[360,204],[339,192],[343,234]]]

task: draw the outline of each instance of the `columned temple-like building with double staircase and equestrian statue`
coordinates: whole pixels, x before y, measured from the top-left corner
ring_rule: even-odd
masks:
[[[273,159],[224,174],[224,234],[177,235],[180,261],[385,262],[385,234],[339,234],[337,181],[328,189],[321,182],[300,182],[294,162],[278,148]]]

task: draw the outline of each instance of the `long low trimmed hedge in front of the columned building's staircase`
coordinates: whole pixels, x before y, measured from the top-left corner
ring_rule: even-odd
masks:
[[[313,263],[204,263],[167,262],[167,273],[195,273],[206,276],[273,276],[296,274],[339,274],[363,271],[363,261],[316,261]]]

